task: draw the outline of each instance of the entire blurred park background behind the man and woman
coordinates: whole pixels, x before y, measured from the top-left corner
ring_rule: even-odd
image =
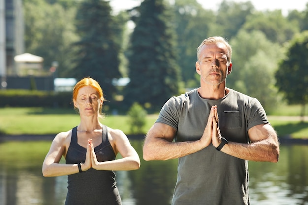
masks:
[[[307,0],[0,0],[0,205],[64,204],[67,176],[44,178],[41,165],[53,136],[78,123],[72,88],[86,76],[103,88],[107,125],[142,158],[163,104],[199,87],[209,36],[232,46],[227,87],[258,98],[281,135],[277,164],[249,162],[252,204],[308,205]],[[123,205],[170,204],[176,168],[118,172]]]

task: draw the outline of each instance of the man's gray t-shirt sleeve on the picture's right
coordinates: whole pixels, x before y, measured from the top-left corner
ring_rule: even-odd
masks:
[[[247,129],[259,125],[259,124],[270,124],[267,119],[264,108],[262,107],[259,100],[256,98],[250,98],[250,102],[246,107],[247,114]]]

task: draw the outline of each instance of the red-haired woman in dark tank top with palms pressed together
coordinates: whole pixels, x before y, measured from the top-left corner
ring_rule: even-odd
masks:
[[[73,89],[80,124],[56,135],[43,162],[45,177],[68,175],[65,205],[121,205],[114,171],[140,167],[127,136],[99,122],[103,102],[97,81],[80,80]],[[116,159],[118,153],[121,159]],[[66,164],[59,164],[62,156]]]

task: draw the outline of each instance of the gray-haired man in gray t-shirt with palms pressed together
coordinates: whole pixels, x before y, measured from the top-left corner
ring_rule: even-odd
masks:
[[[277,162],[277,134],[255,98],[226,87],[231,46],[197,49],[200,88],[170,98],[148,131],[145,160],[179,158],[172,205],[249,205],[248,160]]]

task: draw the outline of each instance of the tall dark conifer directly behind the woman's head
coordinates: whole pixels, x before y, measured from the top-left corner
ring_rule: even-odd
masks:
[[[76,67],[74,77],[90,76],[101,85],[107,100],[116,92],[113,78],[121,77],[119,71],[120,43],[117,41],[121,25],[111,15],[109,2],[83,0],[76,16],[77,33]]]

